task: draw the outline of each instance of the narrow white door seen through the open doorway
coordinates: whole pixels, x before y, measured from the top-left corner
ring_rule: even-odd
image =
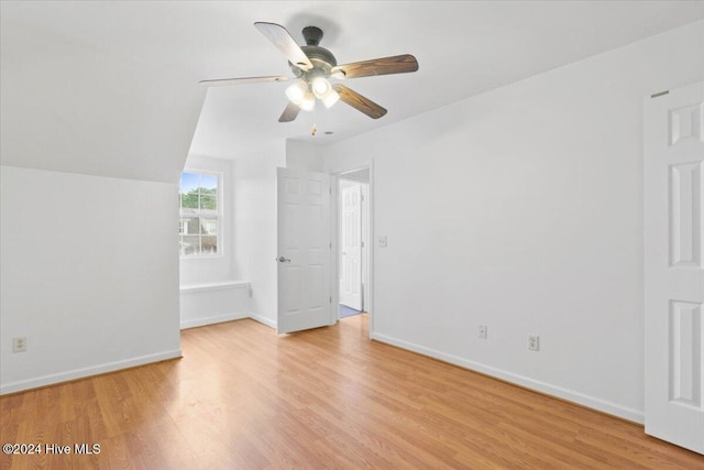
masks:
[[[340,304],[362,309],[362,185],[343,185]]]

